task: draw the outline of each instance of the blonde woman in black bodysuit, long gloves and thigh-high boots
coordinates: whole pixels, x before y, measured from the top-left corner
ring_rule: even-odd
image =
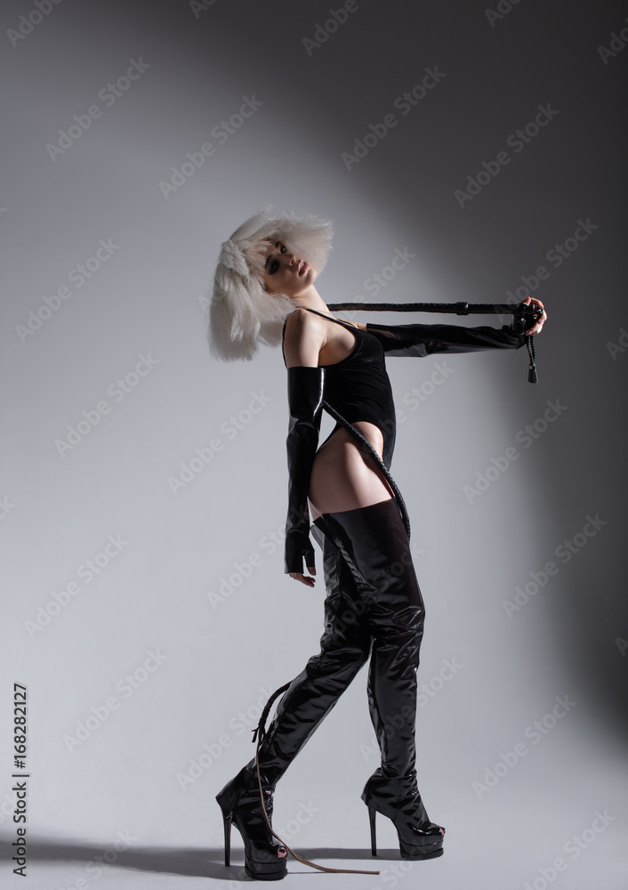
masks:
[[[225,862],[233,821],[245,841],[247,873],[265,880],[286,875],[286,847],[275,842],[264,813],[272,812],[276,783],[369,658],[368,705],[382,753],[362,794],[373,854],[375,813],[393,821],[404,859],[443,852],[445,829],[430,821],[416,784],[424,606],[405,508],[389,472],[395,409],[384,357],[525,343],[523,331],[508,327],[390,327],[335,319],[315,286],[332,234],[330,223],[313,216],[282,219],[267,208],[252,217],[222,245],[210,312],[210,346],[218,358],[250,359],[260,342],[283,344],[290,410],[286,572],[313,587],[310,531],[325,570],[321,651],[284,687],[258,743],[259,773],[254,759],[217,796]],[[526,302],[543,308],[538,300]],[[538,334],[546,318],[543,311],[525,334]],[[337,423],[318,448],[323,407]]]

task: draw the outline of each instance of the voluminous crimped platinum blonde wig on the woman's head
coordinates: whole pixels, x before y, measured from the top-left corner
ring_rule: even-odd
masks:
[[[221,245],[209,310],[208,341],[212,355],[223,361],[253,359],[259,344],[281,342],[283,323],[295,303],[286,294],[269,294],[262,273],[265,250],[282,241],[323,271],[334,229],[329,220],[310,214],[279,216],[265,207]]]

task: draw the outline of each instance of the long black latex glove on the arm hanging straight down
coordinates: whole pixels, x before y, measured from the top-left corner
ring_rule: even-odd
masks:
[[[290,425],[286,441],[289,474],[286,572],[302,573],[303,557],[306,567],[314,567],[308,490],[312,462],[318,448],[324,383],[324,368],[288,368]]]

